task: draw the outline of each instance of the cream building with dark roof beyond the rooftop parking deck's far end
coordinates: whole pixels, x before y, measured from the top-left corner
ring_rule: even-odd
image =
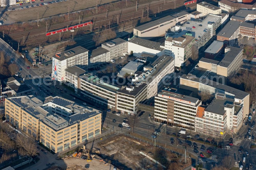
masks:
[[[203,16],[208,14],[220,15],[221,9],[212,4],[208,4],[207,2],[200,2],[196,4],[196,10],[203,13]]]

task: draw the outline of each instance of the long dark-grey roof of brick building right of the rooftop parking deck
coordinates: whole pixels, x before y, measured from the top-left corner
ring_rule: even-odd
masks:
[[[240,21],[230,20],[225,25],[225,27],[222,28],[222,30],[220,30],[217,36],[230,38],[234,34],[234,32],[236,32],[239,26],[240,26]]]

